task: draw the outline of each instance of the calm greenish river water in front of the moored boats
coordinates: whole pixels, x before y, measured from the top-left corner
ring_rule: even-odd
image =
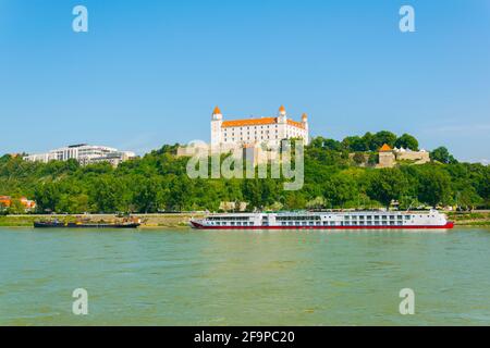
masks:
[[[0,227],[0,325],[490,325],[489,289],[489,228]]]

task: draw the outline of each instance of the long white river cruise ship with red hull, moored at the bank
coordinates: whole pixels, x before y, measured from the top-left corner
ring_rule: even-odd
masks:
[[[454,223],[437,210],[225,213],[192,219],[199,229],[449,229]]]

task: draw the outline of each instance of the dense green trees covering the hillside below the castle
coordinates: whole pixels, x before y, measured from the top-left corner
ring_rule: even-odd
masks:
[[[409,138],[412,139],[412,138]],[[403,141],[402,141],[403,140]],[[403,144],[402,144],[403,142]],[[188,158],[179,148],[163,146],[142,158],[112,167],[108,163],[82,166],[75,160],[30,163],[22,156],[0,157],[0,196],[37,203],[36,213],[156,213],[219,211],[222,202],[245,202],[247,210],[381,208],[397,201],[414,207],[490,207],[490,166],[457,162],[449,152],[433,150],[431,162],[401,162],[395,167],[363,166],[353,152],[371,153],[380,144],[418,148],[416,139],[389,132],[343,141],[317,137],[304,151],[304,185],[284,190],[285,177],[189,178]],[[222,160],[226,158],[223,154]],[[245,175],[244,175],[245,176]],[[22,204],[1,207],[22,213]]]

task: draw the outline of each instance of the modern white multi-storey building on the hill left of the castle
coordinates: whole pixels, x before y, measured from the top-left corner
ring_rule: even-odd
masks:
[[[46,153],[29,154],[24,157],[24,160],[48,163],[49,161],[68,161],[74,159],[82,165],[109,162],[117,166],[119,163],[135,157],[136,154],[131,151],[119,151],[118,149],[106,146],[78,144],[54,149]]]

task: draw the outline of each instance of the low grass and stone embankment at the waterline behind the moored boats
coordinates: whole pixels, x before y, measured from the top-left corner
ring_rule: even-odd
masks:
[[[446,212],[448,217],[457,226],[490,226],[490,211],[475,212]],[[188,226],[192,217],[203,217],[203,213],[175,214],[136,214],[142,219],[143,228],[181,228]],[[0,216],[0,226],[3,227],[32,227],[35,221],[58,219],[63,222],[76,222],[83,219],[86,222],[98,223],[117,222],[120,217],[113,214],[94,215],[4,215]]]

